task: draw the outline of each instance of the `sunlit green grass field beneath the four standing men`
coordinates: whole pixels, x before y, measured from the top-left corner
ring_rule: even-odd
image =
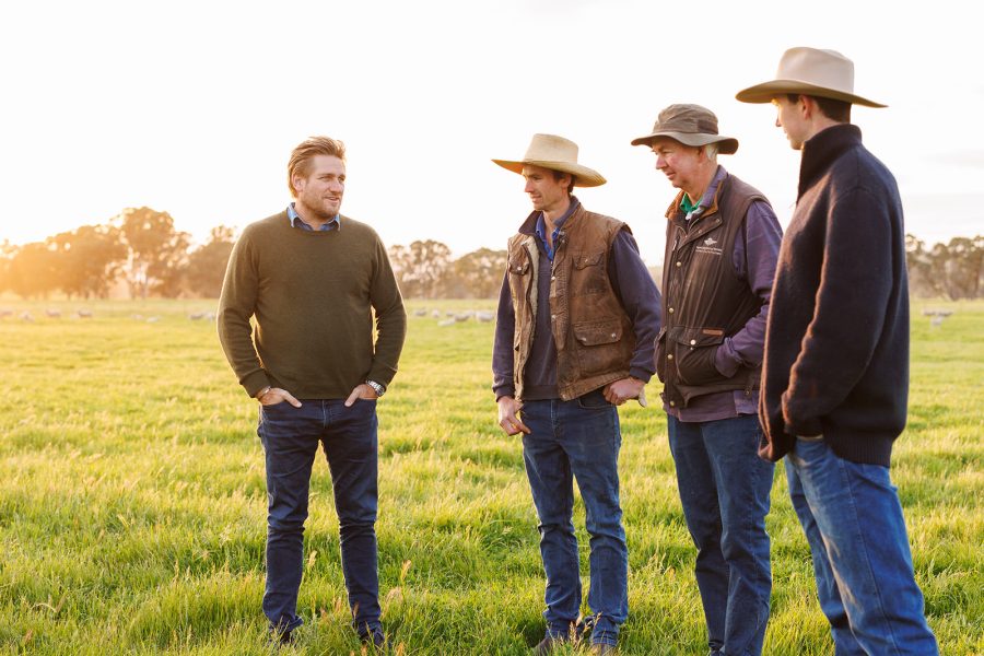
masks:
[[[0,653],[269,653],[256,402],[236,385],[214,323],[188,318],[214,303],[96,303],[85,319],[68,316],[78,303],[0,306],[15,313],[0,320]],[[48,318],[47,307],[66,316]],[[930,326],[924,307],[953,314]],[[17,318],[25,309],[34,323]],[[379,403],[391,654],[527,654],[542,633],[520,444],[495,425],[489,389],[492,330],[411,312],[400,373]],[[941,652],[984,654],[984,303],[916,304],[913,338],[910,423],[892,476]],[[621,418],[631,607],[621,652],[703,655],[665,415],[632,403]],[[284,653],[359,654],[324,459],[312,491],[306,625]],[[581,507],[575,524],[586,581]],[[765,653],[831,654],[782,467],[769,531]]]

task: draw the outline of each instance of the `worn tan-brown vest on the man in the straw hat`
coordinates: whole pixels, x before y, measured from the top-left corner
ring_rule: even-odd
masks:
[[[608,278],[608,257],[621,221],[577,208],[557,238],[553,265],[539,271],[537,237],[509,238],[509,291],[516,315],[513,379],[523,398],[523,372],[532,347],[537,277],[550,274],[550,326],[557,347],[557,387],[570,401],[629,375],[635,349],[632,321]]]

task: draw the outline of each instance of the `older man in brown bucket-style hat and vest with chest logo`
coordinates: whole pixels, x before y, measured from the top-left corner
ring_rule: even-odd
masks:
[[[782,229],[765,197],[717,163],[738,141],[700,105],[670,105],[632,141],[679,189],[666,212],[656,345],[670,452],[712,654],[760,654],[772,574],[773,465],[758,457],[759,376]]]

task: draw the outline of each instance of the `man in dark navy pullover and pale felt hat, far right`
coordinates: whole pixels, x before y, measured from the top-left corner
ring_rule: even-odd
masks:
[[[775,80],[738,92],[773,103],[801,151],[765,333],[763,457],[786,458],[837,654],[936,654],[905,520],[889,478],[905,425],[909,290],[895,179],[862,144],[854,63],[792,48]]]

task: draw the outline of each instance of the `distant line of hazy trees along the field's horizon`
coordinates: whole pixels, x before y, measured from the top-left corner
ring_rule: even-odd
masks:
[[[192,247],[167,212],[127,208],[105,224],[44,242],[0,244],[0,293],[105,298],[124,289],[131,298],[216,297],[234,242],[234,231],[220,225],[206,244]],[[905,251],[913,295],[984,296],[984,237],[956,237],[929,248],[906,235]],[[505,250],[479,248],[455,259],[433,239],[393,246],[389,258],[407,298],[491,298],[506,266]]]

